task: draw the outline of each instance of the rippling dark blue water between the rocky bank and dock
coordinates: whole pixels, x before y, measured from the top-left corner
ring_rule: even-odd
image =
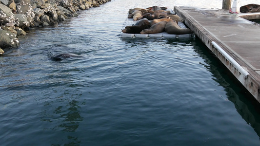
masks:
[[[259,104],[218,59],[198,38],[120,38],[127,5],[31,31],[0,57],[0,145],[259,146]]]

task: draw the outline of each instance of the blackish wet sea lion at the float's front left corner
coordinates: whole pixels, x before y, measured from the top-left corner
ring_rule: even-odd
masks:
[[[150,22],[147,19],[141,19],[135,25],[126,26],[122,32],[126,34],[140,34],[144,29],[150,28]]]

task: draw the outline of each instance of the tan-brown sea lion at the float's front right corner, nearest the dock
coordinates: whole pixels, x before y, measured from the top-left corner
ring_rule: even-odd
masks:
[[[189,28],[180,28],[178,20],[174,19],[165,25],[165,32],[172,35],[184,35],[193,33]]]

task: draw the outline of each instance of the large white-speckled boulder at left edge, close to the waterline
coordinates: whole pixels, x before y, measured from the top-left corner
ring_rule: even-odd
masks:
[[[17,36],[9,31],[0,30],[0,48],[14,48],[19,46]]]

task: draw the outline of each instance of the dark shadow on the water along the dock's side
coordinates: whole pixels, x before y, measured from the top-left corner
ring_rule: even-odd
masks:
[[[168,40],[172,43],[174,40]],[[183,41],[183,40],[182,40]],[[214,79],[226,91],[237,112],[250,125],[260,137],[260,103],[253,95],[243,87],[236,77],[221,63],[221,61],[210,50],[196,38],[194,42],[195,52],[205,61],[204,67],[213,74]]]

